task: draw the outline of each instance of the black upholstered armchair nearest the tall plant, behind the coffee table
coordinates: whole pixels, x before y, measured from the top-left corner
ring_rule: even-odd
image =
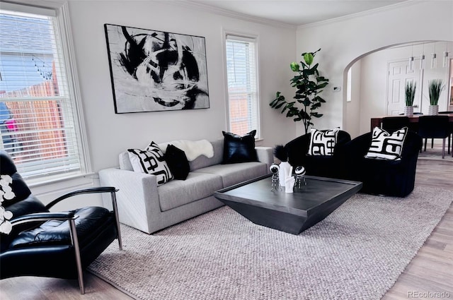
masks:
[[[333,155],[328,156],[307,155],[310,138],[311,133],[306,133],[285,145],[289,164],[293,167],[304,166],[307,175],[342,178],[344,153],[341,148],[351,140],[350,134],[346,131],[338,131]]]

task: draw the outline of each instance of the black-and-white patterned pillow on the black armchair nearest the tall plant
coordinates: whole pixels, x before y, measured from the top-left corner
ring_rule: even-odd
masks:
[[[339,128],[327,131],[320,131],[316,128],[311,128],[310,144],[308,155],[333,155],[335,145],[338,140]]]

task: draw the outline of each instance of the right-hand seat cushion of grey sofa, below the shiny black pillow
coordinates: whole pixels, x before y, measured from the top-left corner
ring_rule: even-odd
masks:
[[[268,165],[263,162],[242,162],[238,164],[215,164],[197,169],[196,173],[207,173],[222,176],[223,187],[268,174]]]

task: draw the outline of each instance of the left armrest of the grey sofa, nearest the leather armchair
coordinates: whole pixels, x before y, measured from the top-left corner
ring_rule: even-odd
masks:
[[[149,232],[148,219],[161,211],[157,178],[152,174],[122,169],[102,169],[99,171],[101,186],[115,186],[120,222]],[[111,208],[110,198],[103,197],[103,205]]]

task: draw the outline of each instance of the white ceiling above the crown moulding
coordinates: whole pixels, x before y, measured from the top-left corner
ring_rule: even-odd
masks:
[[[306,25],[412,0],[189,0],[193,4],[287,25]]]

